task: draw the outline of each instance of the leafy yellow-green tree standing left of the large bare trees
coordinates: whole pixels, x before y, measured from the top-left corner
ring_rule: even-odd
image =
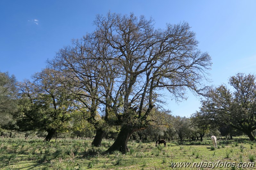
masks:
[[[34,81],[19,84],[18,111],[14,114],[19,131],[45,130],[45,141],[66,131],[74,110],[74,100],[66,88],[55,83],[50,70],[34,75]]]

